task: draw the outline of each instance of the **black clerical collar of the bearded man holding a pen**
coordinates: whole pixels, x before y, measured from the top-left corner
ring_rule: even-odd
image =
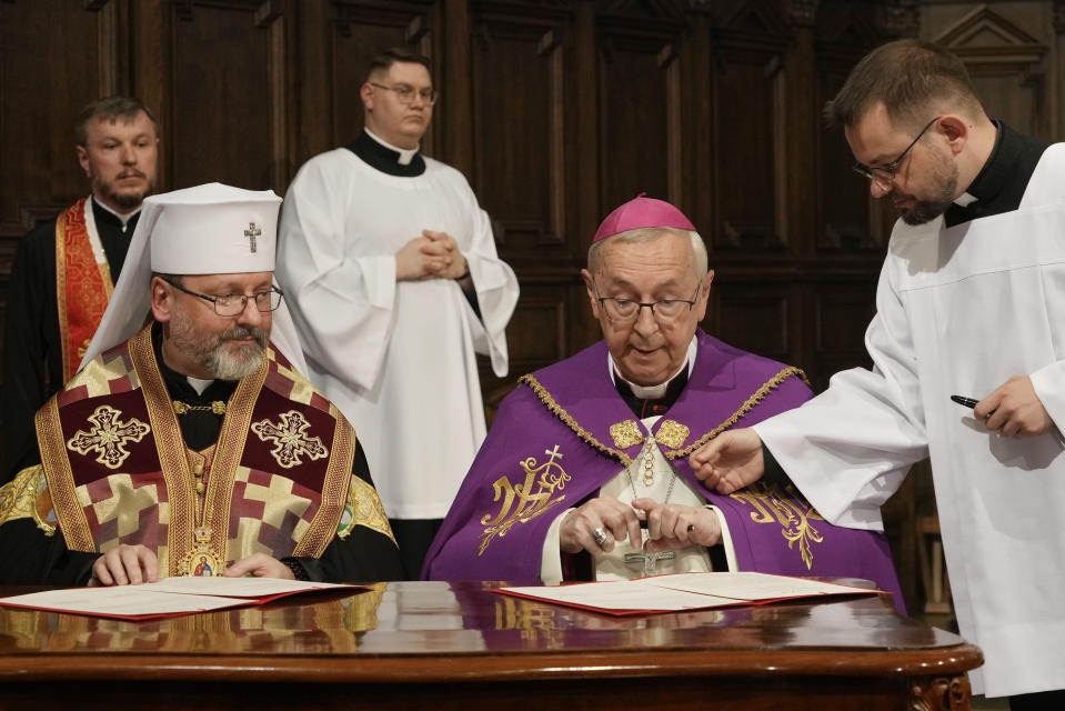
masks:
[[[944,213],[947,227],[1016,210],[1046,150],[1046,143],[1022,136],[1002,121],[994,124],[995,146],[973,182]]]

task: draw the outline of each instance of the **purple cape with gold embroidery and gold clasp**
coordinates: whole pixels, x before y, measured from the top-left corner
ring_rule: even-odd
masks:
[[[732,427],[750,427],[812,395],[802,371],[699,331],[687,385],[655,423],[663,455],[727,521],[740,570],[865,578],[898,594],[883,534],[832,525],[794,490],[756,483],[707,491],[687,455]],[[423,577],[539,579],[554,518],[597,494],[640,453],[644,428],[617,394],[599,342],[521,379],[508,395],[443,527]]]

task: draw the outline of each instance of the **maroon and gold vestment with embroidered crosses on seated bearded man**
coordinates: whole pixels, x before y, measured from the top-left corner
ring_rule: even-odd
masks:
[[[217,444],[189,450],[151,327],[68,382],[38,412],[37,432],[67,547],[142,543],[161,575],[219,574],[257,551],[320,557],[355,451],[340,411],[273,349],[238,384]]]

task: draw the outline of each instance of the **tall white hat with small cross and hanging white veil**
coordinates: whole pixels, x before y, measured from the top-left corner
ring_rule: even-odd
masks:
[[[273,271],[281,198],[212,182],[145,198],[114,293],[86,357],[132,338],[150,318],[152,272],[243,274]],[[284,300],[273,312],[270,341],[307,372],[295,324]]]

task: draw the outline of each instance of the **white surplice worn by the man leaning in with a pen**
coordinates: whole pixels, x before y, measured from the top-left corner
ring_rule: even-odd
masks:
[[[944,228],[898,222],[865,337],[873,371],[755,425],[826,519],[878,529],[910,465],[932,458],[961,633],[991,697],[1065,689],[1065,144],[1018,210]],[[1031,375],[1056,428],[989,433],[952,394]]]

